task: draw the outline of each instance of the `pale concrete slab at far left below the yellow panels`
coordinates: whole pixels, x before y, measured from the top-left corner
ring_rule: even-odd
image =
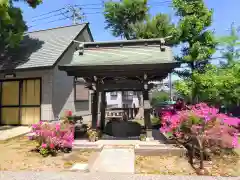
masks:
[[[28,126],[13,126],[9,128],[4,128],[4,126],[2,126],[0,128],[0,141],[6,141],[18,136],[22,136],[29,133],[30,131],[31,127]]]

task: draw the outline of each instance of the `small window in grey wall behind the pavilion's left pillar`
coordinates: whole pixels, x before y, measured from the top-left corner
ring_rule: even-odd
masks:
[[[88,101],[89,100],[89,89],[85,87],[84,82],[74,82],[74,95],[75,101]]]

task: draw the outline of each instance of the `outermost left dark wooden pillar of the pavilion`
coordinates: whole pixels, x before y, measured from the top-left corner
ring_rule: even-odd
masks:
[[[92,129],[97,129],[97,121],[98,121],[98,99],[99,99],[99,92],[94,90],[92,92]]]

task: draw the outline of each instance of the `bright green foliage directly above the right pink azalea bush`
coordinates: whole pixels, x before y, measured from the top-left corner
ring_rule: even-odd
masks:
[[[203,100],[215,104],[238,104],[240,102],[240,63],[227,68],[209,66],[204,74],[194,73],[198,94]]]

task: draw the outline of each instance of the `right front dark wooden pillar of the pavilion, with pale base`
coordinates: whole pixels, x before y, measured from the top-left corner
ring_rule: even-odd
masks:
[[[145,123],[145,128],[146,128],[146,133],[147,133],[147,138],[149,140],[152,140],[152,123],[151,123],[151,116],[150,116],[150,102],[149,102],[149,94],[148,94],[148,89],[143,90],[143,105],[144,105],[144,123]]]

